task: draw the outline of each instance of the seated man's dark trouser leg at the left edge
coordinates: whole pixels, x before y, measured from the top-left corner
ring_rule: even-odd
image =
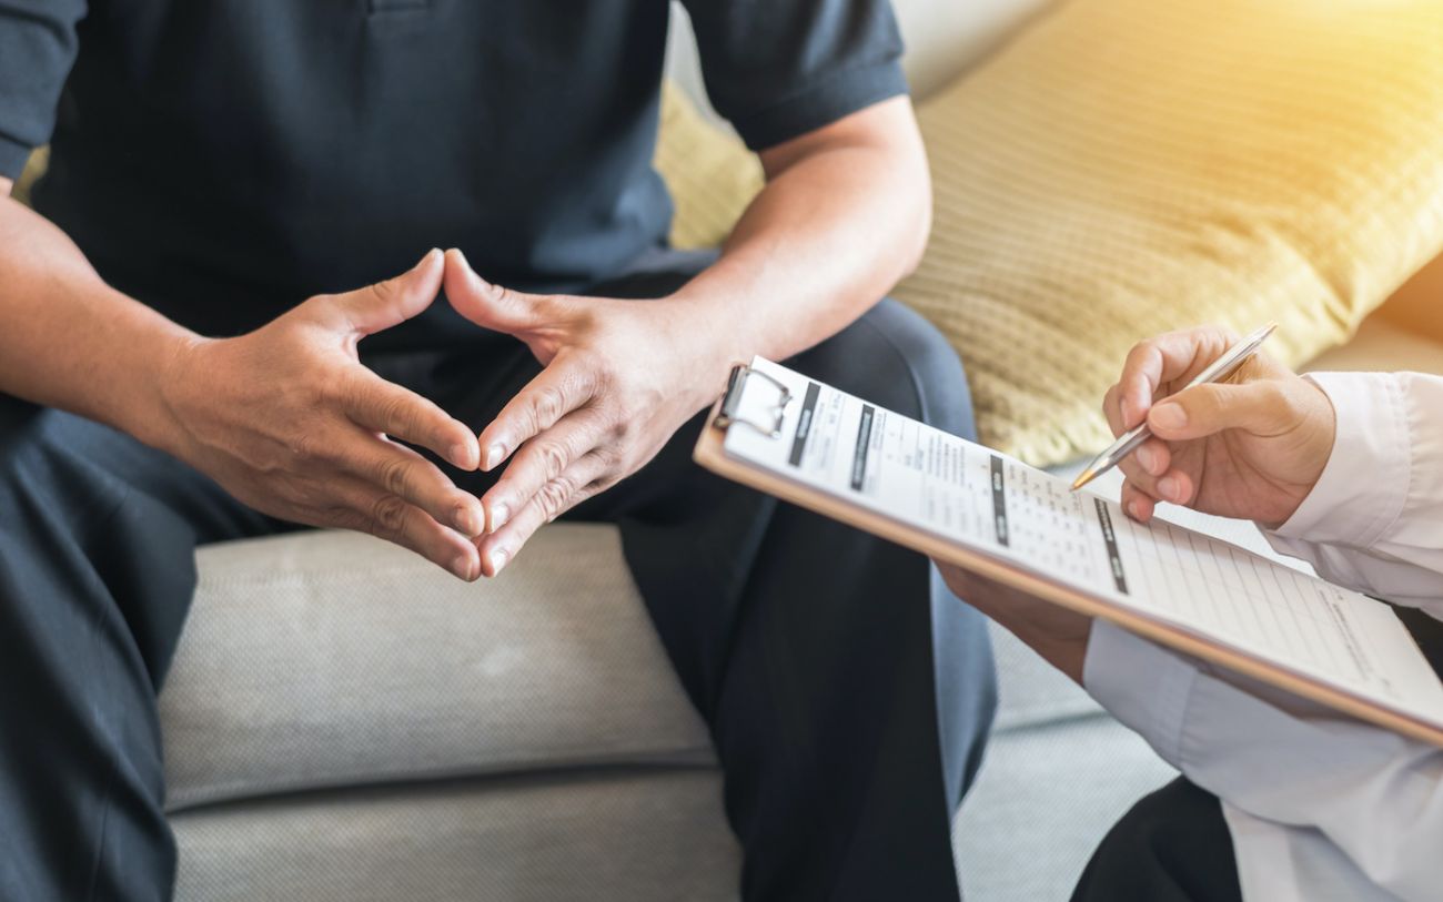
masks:
[[[0,395],[0,898],[166,898],[156,693],[195,547],[274,527],[128,436]]]

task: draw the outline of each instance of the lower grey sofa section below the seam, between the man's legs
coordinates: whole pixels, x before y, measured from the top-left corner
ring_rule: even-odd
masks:
[[[610,768],[234,802],[172,818],[180,902],[736,899],[711,769]]]

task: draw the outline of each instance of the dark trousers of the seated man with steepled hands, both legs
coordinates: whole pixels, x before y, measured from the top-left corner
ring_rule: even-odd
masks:
[[[597,292],[659,296],[691,271]],[[519,342],[482,332],[367,364],[478,429],[538,371]],[[791,365],[971,434],[957,358],[893,302]],[[949,817],[994,704],[981,618],[921,556],[693,465],[700,429],[571,517],[620,528],[711,727],[745,896],[957,898]],[[0,899],[169,898],[156,694],[192,553],[287,528],[127,436],[0,395]]]

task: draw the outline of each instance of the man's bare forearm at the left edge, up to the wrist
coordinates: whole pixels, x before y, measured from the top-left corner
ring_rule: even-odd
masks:
[[[0,391],[159,443],[162,372],[195,335],[107,286],[0,188]]]

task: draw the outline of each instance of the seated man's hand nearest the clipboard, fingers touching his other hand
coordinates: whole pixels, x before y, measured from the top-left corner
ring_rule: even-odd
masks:
[[[635,473],[714,400],[727,361],[714,326],[670,300],[525,294],[446,253],[446,296],[485,329],[514,335],[544,367],[481,433],[482,570],[495,576],[545,522]],[[509,460],[509,463],[508,463]]]

